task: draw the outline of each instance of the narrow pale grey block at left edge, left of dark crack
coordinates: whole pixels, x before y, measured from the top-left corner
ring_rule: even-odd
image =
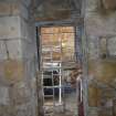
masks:
[[[7,50],[3,41],[0,41],[0,60],[7,59]]]

